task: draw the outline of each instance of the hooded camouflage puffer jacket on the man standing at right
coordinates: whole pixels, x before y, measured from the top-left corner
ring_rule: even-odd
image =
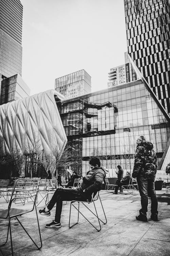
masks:
[[[156,160],[153,144],[149,141],[142,141],[136,148],[132,177],[154,178],[157,170]]]

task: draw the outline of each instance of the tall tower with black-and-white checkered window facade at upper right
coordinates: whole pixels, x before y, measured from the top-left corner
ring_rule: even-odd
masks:
[[[128,54],[170,113],[170,1],[124,0]]]

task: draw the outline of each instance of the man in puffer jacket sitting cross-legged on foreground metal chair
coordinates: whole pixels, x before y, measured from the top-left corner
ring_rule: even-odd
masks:
[[[60,218],[62,212],[63,201],[91,201],[92,193],[97,193],[101,190],[103,179],[106,176],[106,170],[100,167],[100,160],[97,157],[92,157],[89,161],[91,170],[83,177],[83,182],[76,188],[59,187],[54,192],[47,207],[39,210],[39,213],[44,216],[50,216],[50,210],[56,203],[55,219],[46,225],[46,228],[60,228]]]

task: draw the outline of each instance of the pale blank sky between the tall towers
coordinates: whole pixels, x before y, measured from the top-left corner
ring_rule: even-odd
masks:
[[[92,91],[107,88],[108,72],[127,51],[123,0],[20,0],[22,78],[31,95],[55,79],[85,69]]]

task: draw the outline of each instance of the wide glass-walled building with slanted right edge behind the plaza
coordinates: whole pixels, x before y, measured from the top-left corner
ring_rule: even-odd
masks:
[[[57,102],[72,150],[82,154],[82,175],[88,160],[98,156],[109,176],[117,165],[132,169],[136,139],[146,136],[160,162],[170,137],[165,117],[141,80]]]

